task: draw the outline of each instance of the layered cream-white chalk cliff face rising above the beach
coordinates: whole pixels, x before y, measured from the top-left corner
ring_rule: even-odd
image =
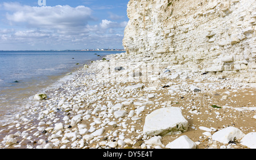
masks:
[[[255,8],[254,0],[131,0],[123,46],[130,56],[254,83]]]

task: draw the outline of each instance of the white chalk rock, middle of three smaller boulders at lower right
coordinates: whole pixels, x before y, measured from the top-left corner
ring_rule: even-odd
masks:
[[[237,129],[236,127],[227,127],[214,133],[212,135],[212,139],[224,144],[228,144],[228,142],[234,140],[235,137],[236,140],[238,140],[243,136],[245,136],[245,134],[240,129]]]

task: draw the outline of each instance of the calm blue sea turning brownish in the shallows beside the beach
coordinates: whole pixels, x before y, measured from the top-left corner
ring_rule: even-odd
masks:
[[[28,98],[58,81],[61,83],[61,79],[67,80],[66,74],[82,64],[121,52],[0,51],[0,122],[6,115],[14,116]]]

